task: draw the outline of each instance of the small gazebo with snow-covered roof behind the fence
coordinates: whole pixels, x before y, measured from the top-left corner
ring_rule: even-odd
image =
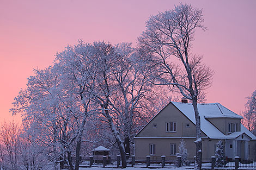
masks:
[[[110,156],[109,156],[109,149],[99,146],[93,151],[93,160],[95,163],[103,163],[103,156],[107,157],[107,162],[110,161]]]

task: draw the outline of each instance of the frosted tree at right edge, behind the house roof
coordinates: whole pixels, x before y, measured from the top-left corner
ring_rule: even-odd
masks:
[[[242,112],[242,123],[248,127],[249,131],[256,134],[256,90],[247,97],[245,111]]]

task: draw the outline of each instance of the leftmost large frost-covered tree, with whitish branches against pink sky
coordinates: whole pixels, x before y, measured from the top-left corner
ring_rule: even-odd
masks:
[[[21,90],[15,98],[13,114],[21,112],[22,122],[28,135],[35,136],[47,148],[46,155],[52,161],[55,169],[59,158],[64,157],[64,147],[61,144],[62,134],[66,134],[66,124],[69,119],[64,117],[62,96],[59,87],[59,74],[52,67],[45,70],[35,70],[35,75],[28,78],[27,89]]]

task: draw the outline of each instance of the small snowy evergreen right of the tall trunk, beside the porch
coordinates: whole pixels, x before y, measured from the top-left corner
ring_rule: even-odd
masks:
[[[215,150],[215,156],[216,156],[216,167],[224,167],[225,165],[225,147],[223,144],[223,141],[220,140],[216,144],[216,150]]]

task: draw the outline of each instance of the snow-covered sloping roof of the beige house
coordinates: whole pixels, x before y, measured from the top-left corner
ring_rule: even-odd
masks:
[[[180,103],[180,102],[172,102],[187,118],[189,118],[194,124],[196,124],[196,118],[194,117],[194,109],[193,105],[190,103]],[[235,138],[237,135],[224,135],[220,130],[218,130],[211,122],[207,120],[207,118],[220,118],[220,117],[227,117],[227,118],[243,118],[240,115],[235,114],[233,111],[225,108],[220,103],[209,103],[209,104],[198,104],[198,111],[201,121],[201,130],[205,135],[210,138],[217,138],[217,139],[228,139],[228,138]],[[256,137],[243,125],[241,124],[241,131],[239,134],[245,133],[253,140]]]

